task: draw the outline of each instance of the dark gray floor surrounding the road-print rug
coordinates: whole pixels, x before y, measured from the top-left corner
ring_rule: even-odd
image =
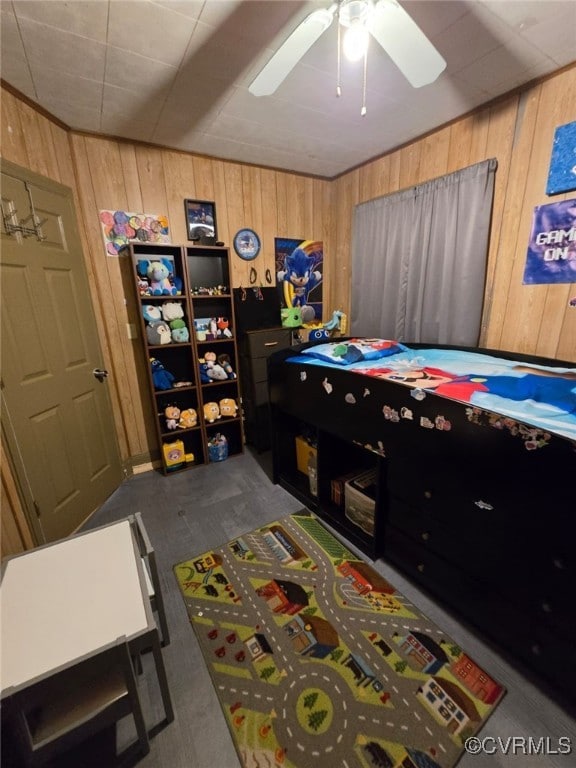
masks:
[[[154,736],[150,754],[137,763],[139,768],[240,768],[172,567],[301,509],[302,505],[270,478],[270,455],[257,455],[250,450],[221,464],[173,476],[164,477],[157,472],[135,475],[86,525],[103,525],[140,511],[156,551],[171,632],[171,642],[163,649],[163,656],[176,717]],[[573,768],[576,722],[567,709],[394,568],[382,560],[374,565],[507,688],[504,700],[480,734],[481,739],[486,739],[487,751],[465,754],[459,768]],[[152,723],[162,718],[162,710],[148,657],[149,654],[143,657],[140,685],[144,689],[146,716]],[[129,738],[128,731],[120,730],[120,741]],[[537,742],[541,737],[548,738],[543,742],[547,754],[529,754],[529,738]],[[571,740],[572,754],[554,754],[563,751],[558,748],[560,737]],[[76,756],[74,768],[106,768],[102,762],[106,758],[101,757],[99,763],[90,762],[94,759],[93,751],[91,756]],[[338,765],[338,757],[333,755],[329,768]]]

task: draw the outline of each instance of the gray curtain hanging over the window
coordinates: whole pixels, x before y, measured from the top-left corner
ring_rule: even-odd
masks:
[[[496,166],[356,206],[353,335],[477,346]]]

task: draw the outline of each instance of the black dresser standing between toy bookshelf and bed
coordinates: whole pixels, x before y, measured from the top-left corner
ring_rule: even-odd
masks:
[[[262,452],[270,448],[268,357],[292,343],[291,328],[245,331],[239,338],[242,405],[246,442]]]

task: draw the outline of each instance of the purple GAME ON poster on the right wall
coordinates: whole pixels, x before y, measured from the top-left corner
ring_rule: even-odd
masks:
[[[534,208],[522,282],[576,283],[576,200]]]

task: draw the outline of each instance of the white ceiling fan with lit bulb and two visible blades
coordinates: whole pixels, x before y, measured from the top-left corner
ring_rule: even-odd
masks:
[[[282,43],[248,90],[270,96],[334,21],[346,29],[352,58],[365,56],[369,34],[382,46],[414,88],[434,82],[446,62],[396,0],[340,0],[307,16]],[[340,33],[340,29],[339,29]]]

